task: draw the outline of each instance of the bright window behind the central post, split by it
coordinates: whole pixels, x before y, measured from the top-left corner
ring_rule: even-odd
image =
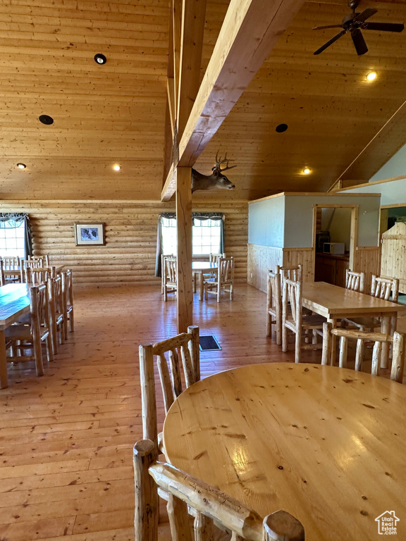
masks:
[[[176,220],[161,218],[162,253],[176,254]],[[219,254],[221,246],[221,220],[199,220],[193,218],[192,247],[193,256],[209,256]]]

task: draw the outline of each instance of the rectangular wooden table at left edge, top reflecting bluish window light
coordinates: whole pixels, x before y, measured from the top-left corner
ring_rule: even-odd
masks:
[[[4,331],[20,316],[30,313],[30,286],[7,284],[0,287],[0,389],[7,387],[6,337]]]

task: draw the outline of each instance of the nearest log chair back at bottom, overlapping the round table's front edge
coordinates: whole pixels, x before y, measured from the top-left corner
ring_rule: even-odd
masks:
[[[294,516],[276,511],[262,520],[255,511],[215,487],[171,464],[158,462],[151,440],[135,444],[133,463],[135,541],[158,541],[158,490],[168,494],[173,541],[305,541],[302,523]]]

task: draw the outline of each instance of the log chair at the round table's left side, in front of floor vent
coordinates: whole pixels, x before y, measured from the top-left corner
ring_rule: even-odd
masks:
[[[200,379],[199,327],[192,325],[187,328],[187,332],[154,345],[141,344],[139,353],[142,433],[145,440],[152,440],[163,452],[161,436],[158,437],[154,356],[161,380],[166,416],[173,401],[183,390],[180,363],[183,367],[185,387],[190,387]]]

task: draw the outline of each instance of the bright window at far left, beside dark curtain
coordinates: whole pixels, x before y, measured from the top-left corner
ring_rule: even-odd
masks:
[[[27,258],[32,253],[27,214],[0,213],[0,256]]]

